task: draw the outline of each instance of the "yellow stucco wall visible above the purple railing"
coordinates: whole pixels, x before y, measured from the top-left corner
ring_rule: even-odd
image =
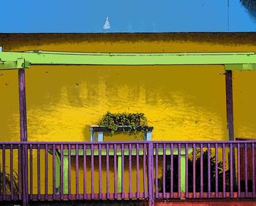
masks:
[[[255,34],[0,34],[4,50],[251,52]],[[105,112],[143,112],[153,140],[227,140],[224,66],[31,66],[29,141],[89,141]],[[256,72],[233,72],[235,137],[256,137]],[[1,141],[19,141],[18,71],[0,71]],[[105,140],[128,140],[125,135]],[[133,140],[133,139],[132,139]]]

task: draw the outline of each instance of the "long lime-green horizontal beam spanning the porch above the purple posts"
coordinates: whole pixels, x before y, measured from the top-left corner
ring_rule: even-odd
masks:
[[[228,70],[256,69],[255,53],[70,53],[49,51],[0,52],[0,69],[30,65],[225,65]],[[235,66],[234,66],[235,65]]]

